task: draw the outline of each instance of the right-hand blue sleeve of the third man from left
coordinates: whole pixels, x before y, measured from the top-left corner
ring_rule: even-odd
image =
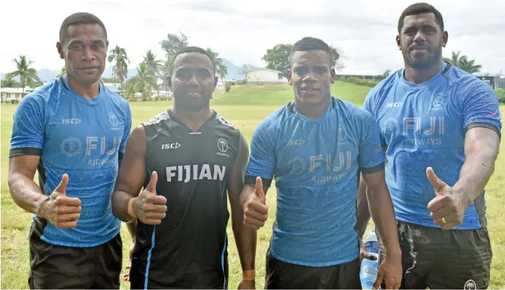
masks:
[[[380,129],[372,116],[363,122],[363,135],[359,144],[358,163],[363,174],[384,170],[384,153],[380,146]]]

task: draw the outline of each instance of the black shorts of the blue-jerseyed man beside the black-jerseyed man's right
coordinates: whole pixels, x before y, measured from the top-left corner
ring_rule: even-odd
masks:
[[[285,263],[266,254],[265,289],[361,289],[359,259],[348,263],[309,267]]]

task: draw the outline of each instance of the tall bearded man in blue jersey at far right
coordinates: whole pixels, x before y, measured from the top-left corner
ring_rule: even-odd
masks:
[[[486,288],[492,252],[484,187],[500,144],[497,97],[483,81],[443,62],[448,33],[432,5],[406,8],[396,41],[405,67],[376,85],[364,107],[382,132],[402,288]]]

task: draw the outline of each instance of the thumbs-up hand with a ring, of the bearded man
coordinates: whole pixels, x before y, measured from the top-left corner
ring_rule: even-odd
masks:
[[[435,190],[435,198],[428,203],[428,210],[431,211],[430,215],[435,224],[443,230],[450,230],[461,224],[468,207],[465,196],[454,192],[452,187],[441,181],[432,168],[426,168],[426,175]]]

